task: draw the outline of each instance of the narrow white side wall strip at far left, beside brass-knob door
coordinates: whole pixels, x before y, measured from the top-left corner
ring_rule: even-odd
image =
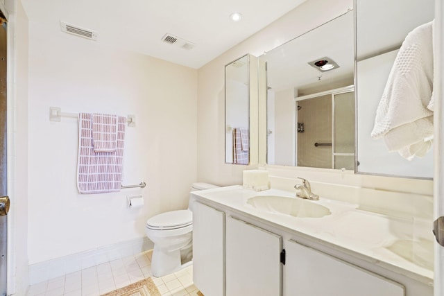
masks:
[[[28,18],[21,1],[6,1],[8,42],[8,293],[28,286]]]

